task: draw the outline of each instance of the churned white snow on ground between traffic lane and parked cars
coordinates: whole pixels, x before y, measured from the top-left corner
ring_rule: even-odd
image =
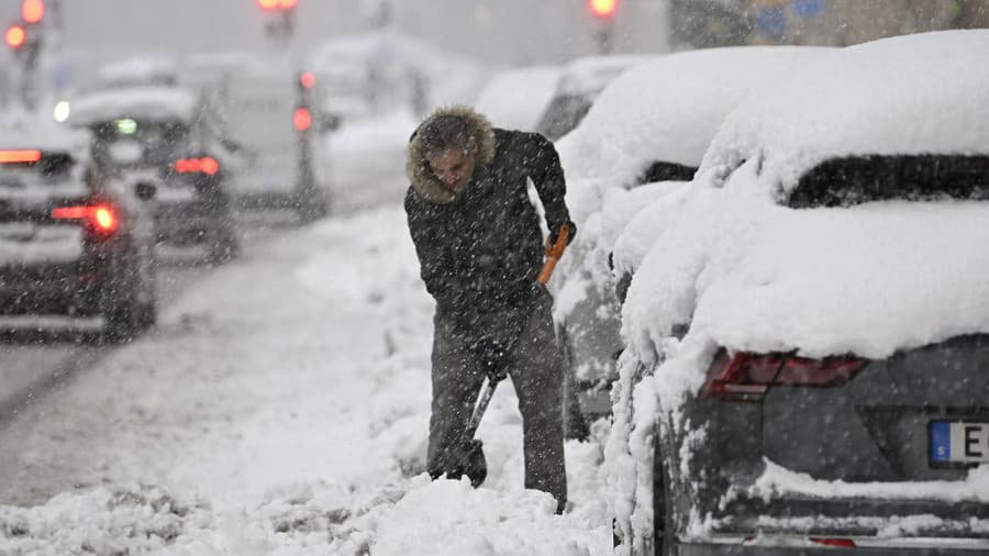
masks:
[[[418,270],[388,204],[205,278],[53,411],[22,412],[40,443],[22,477],[48,465],[42,438],[60,438],[45,442],[90,487],[0,507],[0,553],[609,554],[605,427],[567,445],[563,516],[522,488],[508,387],[479,432],[487,483],[422,474],[433,307]]]

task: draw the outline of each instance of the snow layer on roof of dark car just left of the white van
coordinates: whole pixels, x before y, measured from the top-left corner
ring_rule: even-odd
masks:
[[[200,96],[182,87],[104,89],[77,99],[69,123],[89,126],[121,118],[190,122],[198,118],[200,109]]]

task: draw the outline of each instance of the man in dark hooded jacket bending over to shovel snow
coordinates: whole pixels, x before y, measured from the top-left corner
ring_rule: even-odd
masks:
[[[451,107],[415,131],[405,170],[409,230],[436,300],[427,470],[434,479],[465,472],[464,431],[485,376],[507,374],[522,413],[525,487],[553,494],[563,511],[563,360],[553,298],[536,282],[544,248],[527,192],[532,179],[551,241],[563,226],[573,238],[556,149]]]

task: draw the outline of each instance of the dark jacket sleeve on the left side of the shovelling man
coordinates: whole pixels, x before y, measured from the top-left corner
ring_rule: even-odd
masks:
[[[436,241],[424,222],[424,209],[412,198],[412,193],[405,197],[405,216],[419,257],[420,276],[425,282],[426,291],[433,296],[437,304],[446,308],[457,307],[460,296],[456,287],[454,267],[444,246]]]

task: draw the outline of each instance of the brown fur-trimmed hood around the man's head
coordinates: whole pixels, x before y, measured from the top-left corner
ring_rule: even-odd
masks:
[[[419,129],[438,115],[455,115],[466,121],[467,133],[478,146],[475,174],[494,159],[494,130],[487,118],[475,112],[470,107],[453,105],[441,108],[430,114],[419,125]],[[409,141],[408,159],[405,160],[405,175],[409,177],[409,182],[412,185],[412,189],[426,201],[437,204],[452,202],[457,198],[457,193],[446,187],[430,167],[419,141],[419,129]]]

